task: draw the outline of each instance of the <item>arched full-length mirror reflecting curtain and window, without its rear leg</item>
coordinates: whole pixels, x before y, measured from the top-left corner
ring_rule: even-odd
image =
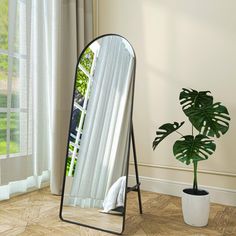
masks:
[[[81,53],[68,137],[60,217],[121,233],[124,228],[135,54],[118,35]]]

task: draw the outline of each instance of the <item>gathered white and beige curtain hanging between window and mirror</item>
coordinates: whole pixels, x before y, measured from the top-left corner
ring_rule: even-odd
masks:
[[[35,171],[51,170],[53,193],[63,177],[76,59],[76,1],[33,1]]]

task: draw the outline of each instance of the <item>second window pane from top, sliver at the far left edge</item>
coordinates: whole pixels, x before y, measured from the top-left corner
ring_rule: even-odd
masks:
[[[8,56],[0,55],[0,107],[7,106]]]

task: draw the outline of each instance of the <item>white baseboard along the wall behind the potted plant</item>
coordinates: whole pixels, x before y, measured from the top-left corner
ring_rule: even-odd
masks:
[[[170,181],[165,179],[156,179],[146,176],[139,177],[141,182],[141,190],[163,193],[172,196],[180,197],[184,188],[191,187],[188,183]],[[129,175],[129,185],[135,184],[135,176]],[[210,193],[211,202],[236,206],[236,190],[218,188],[212,186],[200,186],[201,189],[205,189]]]

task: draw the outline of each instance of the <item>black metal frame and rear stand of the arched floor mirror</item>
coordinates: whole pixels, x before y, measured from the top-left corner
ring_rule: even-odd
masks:
[[[80,59],[82,58],[82,55],[84,54],[85,50],[95,41],[99,40],[100,38],[106,37],[106,36],[118,36],[123,38],[124,40],[126,40],[128,43],[129,41],[124,38],[121,35],[118,34],[104,34],[104,35],[100,35],[98,37],[96,37],[95,39],[93,39],[88,45],[86,45],[86,47],[84,47],[83,51],[80,53],[80,56],[78,58],[77,64],[76,64],[76,70],[75,70],[75,77],[74,77],[74,87],[73,87],[73,96],[72,96],[72,104],[71,104],[71,115],[70,115],[70,124],[69,124],[69,133],[68,133],[68,140],[67,140],[67,150],[66,150],[66,159],[65,159],[65,168],[64,168],[64,176],[63,176],[63,184],[62,184],[62,195],[61,195],[61,203],[60,203],[60,212],[59,212],[59,217],[62,221],[68,222],[68,223],[72,223],[72,224],[76,224],[76,225],[80,225],[80,226],[84,226],[84,227],[88,227],[91,229],[96,229],[96,230],[100,230],[103,232],[107,232],[107,233],[112,233],[112,234],[117,234],[117,235],[121,235],[124,231],[125,228],[125,216],[126,216],[126,203],[127,203],[127,193],[130,191],[136,191],[138,193],[138,201],[139,201],[139,211],[140,214],[142,214],[142,204],[141,204],[141,193],[140,193],[140,182],[139,182],[139,176],[138,176],[138,167],[137,167],[137,158],[136,158],[136,148],[135,148],[135,140],[134,140],[134,130],[133,130],[133,123],[132,123],[132,117],[133,117],[133,103],[134,103],[134,87],[135,87],[135,73],[136,73],[136,55],[135,55],[135,51],[132,47],[132,45],[129,43],[129,45],[131,46],[133,53],[134,53],[134,68],[133,68],[133,72],[132,72],[132,81],[131,81],[131,86],[132,86],[132,98],[131,98],[131,116],[130,116],[130,135],[129,135],[129,140],[128,140],[128,153],[127,153],[127,164],[126,164],[126,189],[125,189],[125,201],[124,201],[124,212],[123,212],[123,221],[122,221],[122,230],[121,232],[114,232],[114,231],[110,231],[110,230],[106,230],[103,228],[97,228],[95,226],[91,226],[91,225],[85,225],[79,222],[75,222],[75,221],[70,221],[67,219],[64,219],[62,216],[62,210],[63,210],[63,200],[64,200],[64,191],[65,191],[65,183],[66,183],[66,167],[67,167],[67,156],[68,156],[68,151],[69,151],[69,143],[70,143],[70,127],[71,127],[71,122],[72,122],[72,114],[73,114],[73,105],[74,105],[74,96],[75,96],[75,86],[76,86],[76,78],[77,78],[77,68],[80,62]],[[128,187],[128,176],[129,176],[129,159],[130,159],[130,145],[132,142],[132,148],[133,148],[133,155],[134,155],[134,166],[135,166],[135,174],[136,174],[136,185],[134,185],[133,187]]]

